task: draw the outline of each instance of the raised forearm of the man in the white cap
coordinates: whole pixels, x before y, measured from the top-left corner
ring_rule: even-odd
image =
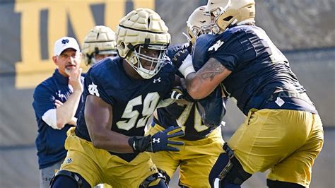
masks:
[[[76,114],[80,99],[81,92],[75,90],[66,102],[64,102],[64,105],[57,107],[57,127],[62,128],[65,124],[74,123],[74,115]]]

